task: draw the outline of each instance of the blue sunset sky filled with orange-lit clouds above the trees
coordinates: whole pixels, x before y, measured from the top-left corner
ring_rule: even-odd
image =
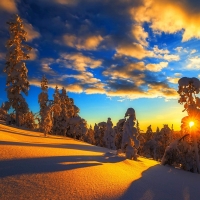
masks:
[[[6,22],[15,14],[33,48],[26,61],[33,112],[45,75],[49,98],[56,85],[65,87],[88,124],[110,117],[115,125],[132,107],[144,131],[180,130],[187,113],[177,82],[200,78],[199,0],[1,0],[0,104],[7,100]]]

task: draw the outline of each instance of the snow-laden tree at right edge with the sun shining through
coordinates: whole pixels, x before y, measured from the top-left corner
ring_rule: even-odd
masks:
[[[187,171],[200,173],[200,98],[197,97],[200,81],[197,78],[183,77],[178,84],[178,102],[184,105],[183,111],[187,111],[188,116],[181,121],[184,135],[166,148],[162,164],[175,165]],[[188,135],[189,139],[185,140]]]

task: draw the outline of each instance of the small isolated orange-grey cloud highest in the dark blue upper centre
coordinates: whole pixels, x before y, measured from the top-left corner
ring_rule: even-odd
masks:
[[[79,50],[96,50],[102,40],[103,38],[100,35],[78,37],[75,35],[65,34],[63,36],[64,44]]]

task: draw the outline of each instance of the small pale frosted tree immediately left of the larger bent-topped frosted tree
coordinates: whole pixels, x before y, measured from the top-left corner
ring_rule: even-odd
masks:
[[[115,131],[113,129],[113,123],[111,121],[111,118],[108,118],[107,124],[106,124],[106,131],[104,134],[104,140],[106,147],[109,149],[116,149],[115,147]]]

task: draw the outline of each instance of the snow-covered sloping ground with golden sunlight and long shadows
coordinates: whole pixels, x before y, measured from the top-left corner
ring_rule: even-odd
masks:
[[[0,124],[1,200],[199,200],[200,175]]]

